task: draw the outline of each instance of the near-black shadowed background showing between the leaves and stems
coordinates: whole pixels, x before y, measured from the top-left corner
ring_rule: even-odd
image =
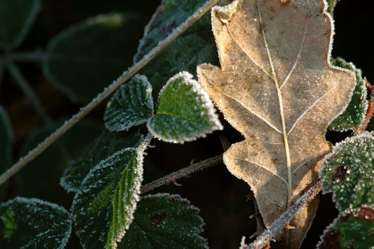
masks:
[[[188,0],[181,0],[188,1]],[[160,1],[43,1],[43,9],[36,19],[31,32],[26,37],[18,51],[43,51],[50,38],[68,26],[82,21],[96,14],[111,11],[139,11],[151,17]],[[335,36],[333,43],[333,57],[340,56],[352,61],[363,70],[368,80],[374,81],[374,36],[371,32],[374,27],[373,9],[371,1],[367,0],[341,0],[336,6]],[[59,92],[54,85],[44,78],[38,64],[20,64],[26,78],[33,89],[41,98],[43,105],[54,120],[69,117],[78,112],[79,105],[70,102],[68,97]],[[0,102],[9,113],[14,127],[15,145],[14,157],[18,154],[21,144],[29,132],[42,125],[41,120],[35,115],[32,106],[16,85],[5,75],[0,90]],[[90,118],[102,122],[103,106],[97,108]],[[223,120],[224,122],[224,120]],[[184,166],[188,166],[194,159],[200,161],[223,152],[219,135],[228,138],[230,142],[242,139],[240,134],[225,123],[223,132],[215,132],[206,139],[188,142],[183,145],[153,142],[156,148],[149,149],[149,166],[145,169],[146,181],[156,176],[168,174]],[[348,134],[328,132],[326,137],[333,143],[340,141]],[[152,169],[152,170],[151,170]],[[178,181],[182,186],[168,186],[157,191],[177,193],[188,198],[193,205],[201,208],[201,216],[205,221],[204,233],[210,248],[238,248],[242,235],[247,238],[255,232],[256,223],[250,216],[254,213],[252,200],[247,201],[250,189],[243,181],[235,179],[224,165],[214,166],[191,178]],[[43,183],[36,183],[43,184]],[[60,188],[56,183],[56,188]],[[53,191],[53,189],[46,189]],[[13,197],[17,189],[11,191]],[[37,197],[37,196],[36,196]],[[67,207],[68,208],[68,207]],[[311,231],[304,241],[303,248],[314,248],[323,229],[333,221],[337,211],[331,203],[331,195],[321,196],[319,211],[317,212]],[[75,248],[74,239],[69,243],[70,248]],[[275,248],[275,247],[274,247]]]

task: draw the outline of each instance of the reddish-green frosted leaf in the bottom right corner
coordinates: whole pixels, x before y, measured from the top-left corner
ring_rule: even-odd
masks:
[[[321,236],[319,249],[374,248],[374,209],[370,206],[345,211]]]

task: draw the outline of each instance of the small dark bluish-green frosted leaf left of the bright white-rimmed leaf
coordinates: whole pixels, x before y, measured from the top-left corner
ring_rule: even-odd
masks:
[[[127,131],[145,124],[153,114],[152,86],[144,75],[135,75],[108,102],[104,115],[105,127],[111,132]]]

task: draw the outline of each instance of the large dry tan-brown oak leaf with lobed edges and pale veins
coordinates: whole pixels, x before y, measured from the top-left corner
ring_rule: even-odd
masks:
[[[198,78],[225,119],[245,137],[224,154],[228,170],[250,184],[269,226],[318,179],[324,134],[351,98],[355,79],[330,65],[333,23],[322,0],[235,0],[212,9],[221,69]],[[286,232],[299,248],[318,199]]]

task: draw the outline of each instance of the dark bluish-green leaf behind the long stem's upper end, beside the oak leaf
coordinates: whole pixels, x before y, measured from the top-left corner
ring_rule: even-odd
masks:
[[[162,1],[146,26],[145,35],[141,39],[134,61],[140,60],[152,48],[155,48],[174,28],[183,23],[203,4],[205,1],[202,0]],[[195,74],[197,65],[201,63],[218,64],[217,49],[210,25],[210,14],[205,14],[191,28],[188,28],[140,73],[148,77],[153,86],[154,100],[156,100],[159,91],[169,80],[170,75],[175,75],[183,70]]]

